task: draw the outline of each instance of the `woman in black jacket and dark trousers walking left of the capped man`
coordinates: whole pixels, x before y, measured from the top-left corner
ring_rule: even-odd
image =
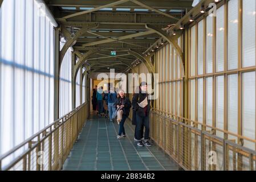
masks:
[[[120,109],[123,110],[123,115],[119,124],[119,134],[117,135],[117,139],[121,139],[127,136],[124,130],[124,122],[127,119],[132,106],[129,98],[124,96],[124,90],[119,90],[119,96],[120,97],[116,98],[114,106],[116,107],[116,109],[119,109],[120,107]]]

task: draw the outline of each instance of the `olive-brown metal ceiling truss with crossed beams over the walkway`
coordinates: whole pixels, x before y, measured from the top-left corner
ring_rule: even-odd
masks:
[[[136,59],[143,60],[149,72],[155,73],[149,56],[143,55],[143,52],[156,46],[162,38],[173,45],[183,60],[180,47],[164,28],[169,24],[177,23],[186,11],[192,9],[193,0],[45,0],[45,2],[58,21],[61,34],[67,39],[60,52],[60,60],[70,46],[79,57],[78,64],[74,65],[75,75],[81,66],[86,67],[87,70],[94,69],[94,72],[108,71],[109,67],[118,71],[133,69],[131,63]],[[62,7],[67,8],[62,9]],[[90,8],[80,9],[81,7]],[[120,11],[120,8],[125,11]],[[178,9],[180,13],[170,11],[173,9]],[[116,51],[117,55],[111,56],[110,51]],[[89,63],[91,68],[85,63]]]

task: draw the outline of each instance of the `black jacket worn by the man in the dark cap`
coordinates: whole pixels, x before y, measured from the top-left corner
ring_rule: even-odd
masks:
[[[143,101],[146,97],[148,97],[148,94],[147,93],[136,93],[134,94],[134,96],[132,97],[132,107],[135,109],[136,111],[136,114],[138,114],[140,117],[145,117],[145,112],[144,112],[144,108],[141,108],[138,103],[140,103],[141,101]],[[149,111],[151,109],[150,107],[150,101],[148,99],[148,105],[146,106],[147,107],[147,115],[149,115]]]

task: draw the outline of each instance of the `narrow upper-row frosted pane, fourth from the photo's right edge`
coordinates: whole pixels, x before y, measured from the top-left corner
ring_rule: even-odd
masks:
[[[213,72],[213,17],[206,18],[206,73]]]

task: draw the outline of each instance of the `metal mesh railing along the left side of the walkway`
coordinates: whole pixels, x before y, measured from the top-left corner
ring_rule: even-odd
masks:
[[[48,171],[62,168],[87,117],[86,103],[1,156],[0,170]]]

